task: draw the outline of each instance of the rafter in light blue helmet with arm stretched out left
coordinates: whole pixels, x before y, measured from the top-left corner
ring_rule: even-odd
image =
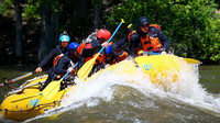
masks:
[[[38,67],[35,69],[36,72],[42,71],[42,67],[48,64],[52,59],[54,59],[58,55],[64,55],[67,52],[67,46],[70,42],[70,37],[66,31],[59,35],[58,38],[59,45],[51,51],[51,53],[38,64]]]

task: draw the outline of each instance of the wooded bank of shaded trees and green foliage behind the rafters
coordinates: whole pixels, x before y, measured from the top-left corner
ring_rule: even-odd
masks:
[[[64,30],[80,43],[100,27],[113,32],[124,19],[116,42],[142,15],[173,41],[169,52],[220,64],[219,9],[219,0],[0,0],[0,66],[37,65]]]

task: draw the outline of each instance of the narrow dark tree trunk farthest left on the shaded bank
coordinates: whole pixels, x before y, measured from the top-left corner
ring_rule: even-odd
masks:
[[[22,18],[20,0],[14,0],[15,16],[16,16],[16,37],[15,37],[15,55],[22,57]]]

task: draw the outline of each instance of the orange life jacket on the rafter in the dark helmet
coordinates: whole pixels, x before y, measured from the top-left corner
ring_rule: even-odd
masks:
[[[151,24],[150,26],[154,26],[154,27],[161,30],[161,27],[157,24]],[[135,31],[132,31],[129,34],[128,38],[131,40],[131,35],[134,33],[135,33]],[[142,44],[142,49],[144,52],[150,52],[152,49],[161,48],[163,46],[161,44],[158,37],[148,36],[148,34],[146,34],[145,37],[141,37],[140,40],[141,40],[141,44]]]

